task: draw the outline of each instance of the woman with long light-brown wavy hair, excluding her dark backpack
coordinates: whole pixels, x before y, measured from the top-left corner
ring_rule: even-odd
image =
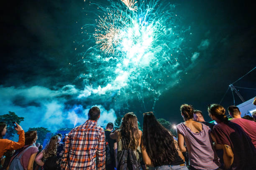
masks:
[[[141,130],[138,129],[138,120],[133,112],[126,113],[123,117],[120,129],[110,134],[111,139],[118,143],[118,165],[120,164],[120,153],[123,150],[132,150],[139,162],[141,153]]]

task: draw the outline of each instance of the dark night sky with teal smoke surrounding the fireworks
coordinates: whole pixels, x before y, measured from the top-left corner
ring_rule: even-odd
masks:
[[[145,92],[143,101],[130,94],[129,89],[121,90],[120,95],[113,90],[113,93],[79,97],[91,80],[80,75],[104,70],[91,60],[91,65],[82,65],[82,61],[89,60],[87,54],[82,60],[81,54],[95,41],[85,42],[82,47],[79,42],[86,37],[81,35],[81,28],[97,17],[86,10],[93,3],[104,6],[115,1],[2,2],[0,115],[14,111],[25,117],[21,124],[25,130],[38,126],[56,130],[73,127],[76,117],[76,125],[81,124],[87,120],[84,114],[88,109],[98,105],[102,110],[100,125],[114,122],[115,115],[126,112],[135,112],[142,123],[142,113],[153,110],[151,93]],[[200,55],[194,62],[184,64],[187,68],[183,74],[175,77],[178,83],[161,90],[154,113],[177,124],[182,121],[180,105],[188,103],[202,110],[205,120],[210,121],[207,105],[219,103],[228,85],[256,66],[255,5],[237,0],[170,2],[176,5],[174,13],[179,16],[179,25],[191,32],[183,43],[185,55],[189,58],[195,52]],[[93,26],[88,30],[94,30]],[[158,67],[161,69],[161,65]],[[256,70],[234,85],[256,88],[255,75]],[[239,89],[239,92],[245,100],[256,96],[256,90]],[[237,95],[235,99],[236,105],[241,103]],[[233,105],[230,90],[221,104],[225,108]]]

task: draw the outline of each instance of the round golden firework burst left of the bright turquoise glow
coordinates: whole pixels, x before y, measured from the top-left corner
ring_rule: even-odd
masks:
[[[109,11],[106,16],[98,20],[97,28],[95,28],[96,44],[105,53],[115,53],[115,47],[120,42],[120,28],[128,21],[119,11]]]

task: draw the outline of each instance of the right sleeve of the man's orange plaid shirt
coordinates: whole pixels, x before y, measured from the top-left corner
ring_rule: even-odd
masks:
[[[98,141],[97,170],[105,170],[105,133],[103,130]]]

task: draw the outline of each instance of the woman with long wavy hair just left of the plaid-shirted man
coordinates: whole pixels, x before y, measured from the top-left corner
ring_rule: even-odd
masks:
[[[59,136],[58,135],[55,135],[53,137],[51,137],[50,139],[50,142],[48,143],[48,145],[46,145],[46,147],[44,148],[44,150],[41,151],[41,153],[39,153],[37,156],[36,156],[36,163],[37,165],[41,166],[41,167],[44,167],[44,170],[47,170],[47,169],[58,169],[60,168],[60,165],[59,165],[59,160],[56,160],[56,156],[57,156],[57,146],[58,146],[58,138]],[[44,166],[45,162],[47,159],[50,159],[52,158],[52,160],[56,160],[56,162],[54,162],[52,164],[52,167],[51,168],[47,168],[46,166]],[[47,165],[48,166],[48,165]]]

